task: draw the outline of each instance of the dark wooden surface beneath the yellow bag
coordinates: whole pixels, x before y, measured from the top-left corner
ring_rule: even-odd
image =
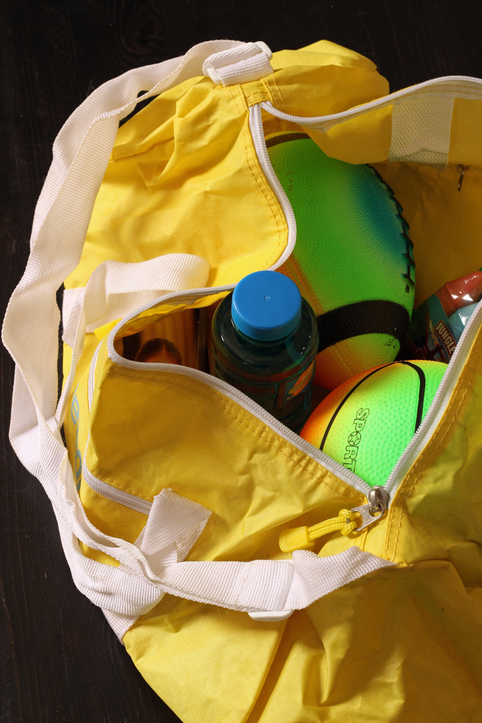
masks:
[[[25,268],[53,139],[102,82],[211,38],[261,39],[274,51],[327,38],[371,58],[391,90],[442,75],[482,77],[479,7],[450,0],[3,0],[2,317]],[[177,721],[72,583],[48,499],[9,445],[13,364],[1,352],[0,723]]]

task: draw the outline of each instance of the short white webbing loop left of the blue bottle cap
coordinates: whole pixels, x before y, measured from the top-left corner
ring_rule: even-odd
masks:
[[[165,254],[138,263],[104,261],[85,288],[64,291],[64,342],[73,348],[82,306],[86,331],[92,333],[168,291],[207,286],[210,268],[209,262],[193,254]]]

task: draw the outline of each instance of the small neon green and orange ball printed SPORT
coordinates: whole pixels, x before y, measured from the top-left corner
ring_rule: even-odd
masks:
[[[332,391],[301,437],[365,482],[384,485],[431,405],[447,364],[394,361]]]

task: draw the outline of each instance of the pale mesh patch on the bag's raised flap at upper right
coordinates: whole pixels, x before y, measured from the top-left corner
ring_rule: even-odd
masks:
[[[443,171],[449,161],[454,98],[426,96],[395,103],[390,161],[413,161]]]

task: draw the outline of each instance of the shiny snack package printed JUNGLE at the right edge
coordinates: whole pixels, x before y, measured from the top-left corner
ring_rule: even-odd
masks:
[[[482,270],[447,281],[413,310],[403,358],[450,361],[481,296]]]

